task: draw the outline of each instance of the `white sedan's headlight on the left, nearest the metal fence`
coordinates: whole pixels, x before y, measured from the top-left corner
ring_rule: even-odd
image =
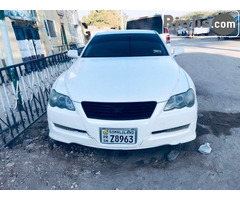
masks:
[[[54,89],[51,91],[49,103],[52,107],[56,106],[61,109],[66,108],[68,110],[75,111],[75,107],[70,97],[60,94]]]

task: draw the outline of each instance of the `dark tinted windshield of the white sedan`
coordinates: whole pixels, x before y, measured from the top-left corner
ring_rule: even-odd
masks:
[[[166,56],[168,52],[155,33],[96,35],[82,57]]]

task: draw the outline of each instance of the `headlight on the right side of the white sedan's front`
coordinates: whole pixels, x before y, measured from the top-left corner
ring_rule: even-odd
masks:
[[[190,88],[187,92],[171,96],[164,108],[164,111],[180,109],[183,107],[192,107],[194,103],[194,91]]]

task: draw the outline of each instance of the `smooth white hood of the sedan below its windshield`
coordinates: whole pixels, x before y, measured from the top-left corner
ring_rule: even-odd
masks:
[[[59,80],[73,101],[166,101],[180,80],[170,56],[80,58]],[[60,84],[60,85],[62,85]]]

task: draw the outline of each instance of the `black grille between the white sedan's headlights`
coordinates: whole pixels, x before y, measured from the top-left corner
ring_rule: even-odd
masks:
[[[155,101],[133,103],[82,102],[88,118],[104,120],[148,119],[156,107]]]

